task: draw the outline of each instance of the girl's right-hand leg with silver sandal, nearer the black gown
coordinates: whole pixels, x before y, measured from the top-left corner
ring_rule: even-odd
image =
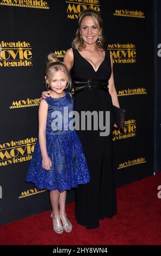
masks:
[[[72,231],[72,224],[69,222],[69,220],[65,215],[65,203],[66,203],[66,190],[60,193],[59,209],[60,209],[61,222],[63,225],[66,224],[64,230],[70,233]]]

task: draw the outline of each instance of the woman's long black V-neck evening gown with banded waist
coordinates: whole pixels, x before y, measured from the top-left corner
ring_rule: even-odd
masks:
[[[99,227],[99,220],[116,215],[115,174],[113,169],[113,104],[108,92],[112,69],[109,51],[97,69],[75,49],[71,70],[76,90],[74,110],[110,111],[110,134],[100,136],[100,130],[78,130],[91,180],[78,185],[76,191],[76,219],[86,228]],[[101,83],[103,82],[103,83]],[[103,89],[102,89],[103,85]],[[104,89],[105,87],[105,89]],[[101,88],[101,89],[100,89]],[[80,120],[81,123],[81,120]]]

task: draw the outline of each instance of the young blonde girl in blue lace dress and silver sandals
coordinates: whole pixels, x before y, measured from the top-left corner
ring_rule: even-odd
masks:
[[[73,111],[71,94],[64,91],[70,85],[69,72],[54,53],[48,56],[45,80],[52,92],[51,97],[40,102],[39,141],[27,181],[50,191],[53,229],[58,234],[64,230],[70,233],[72,224],[65,213],[66,190],[86,184],[90,175],[77,132],[70,129],[72,118],[64,116],[64,109]]]

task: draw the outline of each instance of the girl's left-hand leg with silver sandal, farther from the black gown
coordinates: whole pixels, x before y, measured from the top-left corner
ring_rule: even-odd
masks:
[[[60,192],[58,190],[52,190],[49,193],[49,197],[51,200],[52,205],[52,217],[53,217],[53,226],[54,230],[58,231],[57,233],[63,233],[63,227],[57,227],[61,225],[60,216],[59,216],[59,199],[60,199]]]

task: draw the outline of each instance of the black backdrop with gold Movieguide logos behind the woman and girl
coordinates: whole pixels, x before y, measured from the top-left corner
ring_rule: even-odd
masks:
[[[105,48],[113,55],[117,95],[126,109],[124,130],[113,132],[117,187],[153,174],[153,1],[0,0],[0,224],[51,209],[49,192],[26,182],[46,58],[54,52],[63,61],[78,15],[87,8],[103,17]],[[72,190],[67,203],[74,200]]]

